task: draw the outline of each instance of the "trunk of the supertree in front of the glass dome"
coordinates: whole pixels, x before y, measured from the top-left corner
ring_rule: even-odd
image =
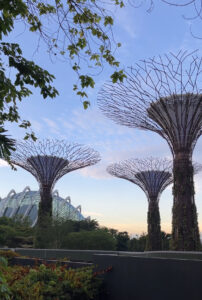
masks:
[[[52,193],[51,186],[40,189],[38,220],[36,225],[35,247],[50,248],[52,244]]]

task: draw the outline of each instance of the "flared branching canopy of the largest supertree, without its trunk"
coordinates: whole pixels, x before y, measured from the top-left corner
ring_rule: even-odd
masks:
[[[98,105],[118,124],[157,132],[172,153],[192,152],[202,132],[201,64],[196,51],[142,60],[124,83],[102,87]]]

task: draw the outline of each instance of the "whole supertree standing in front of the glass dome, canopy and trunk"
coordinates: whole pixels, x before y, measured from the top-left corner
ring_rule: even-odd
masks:
[[[40,232],[46,220],[52,217],[52,191],[56,182],[65,174],[96,164],[98,152],[76,143],[60,140],[25,141],[16,144],[11,162],[30,172],[39,183],[41,201],[39,204],[37,246],[44,245]],[[46,246],[46,245],[44,245]]]

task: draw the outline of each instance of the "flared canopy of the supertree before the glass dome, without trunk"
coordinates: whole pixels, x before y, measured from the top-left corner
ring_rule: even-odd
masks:
[[[66,173],[96,164],[100,160],[97,151],[81,144],[59,140],[18,142],[11,161],[41,183],[55,184]],[[52,178],[50,180],[50,178]]]

